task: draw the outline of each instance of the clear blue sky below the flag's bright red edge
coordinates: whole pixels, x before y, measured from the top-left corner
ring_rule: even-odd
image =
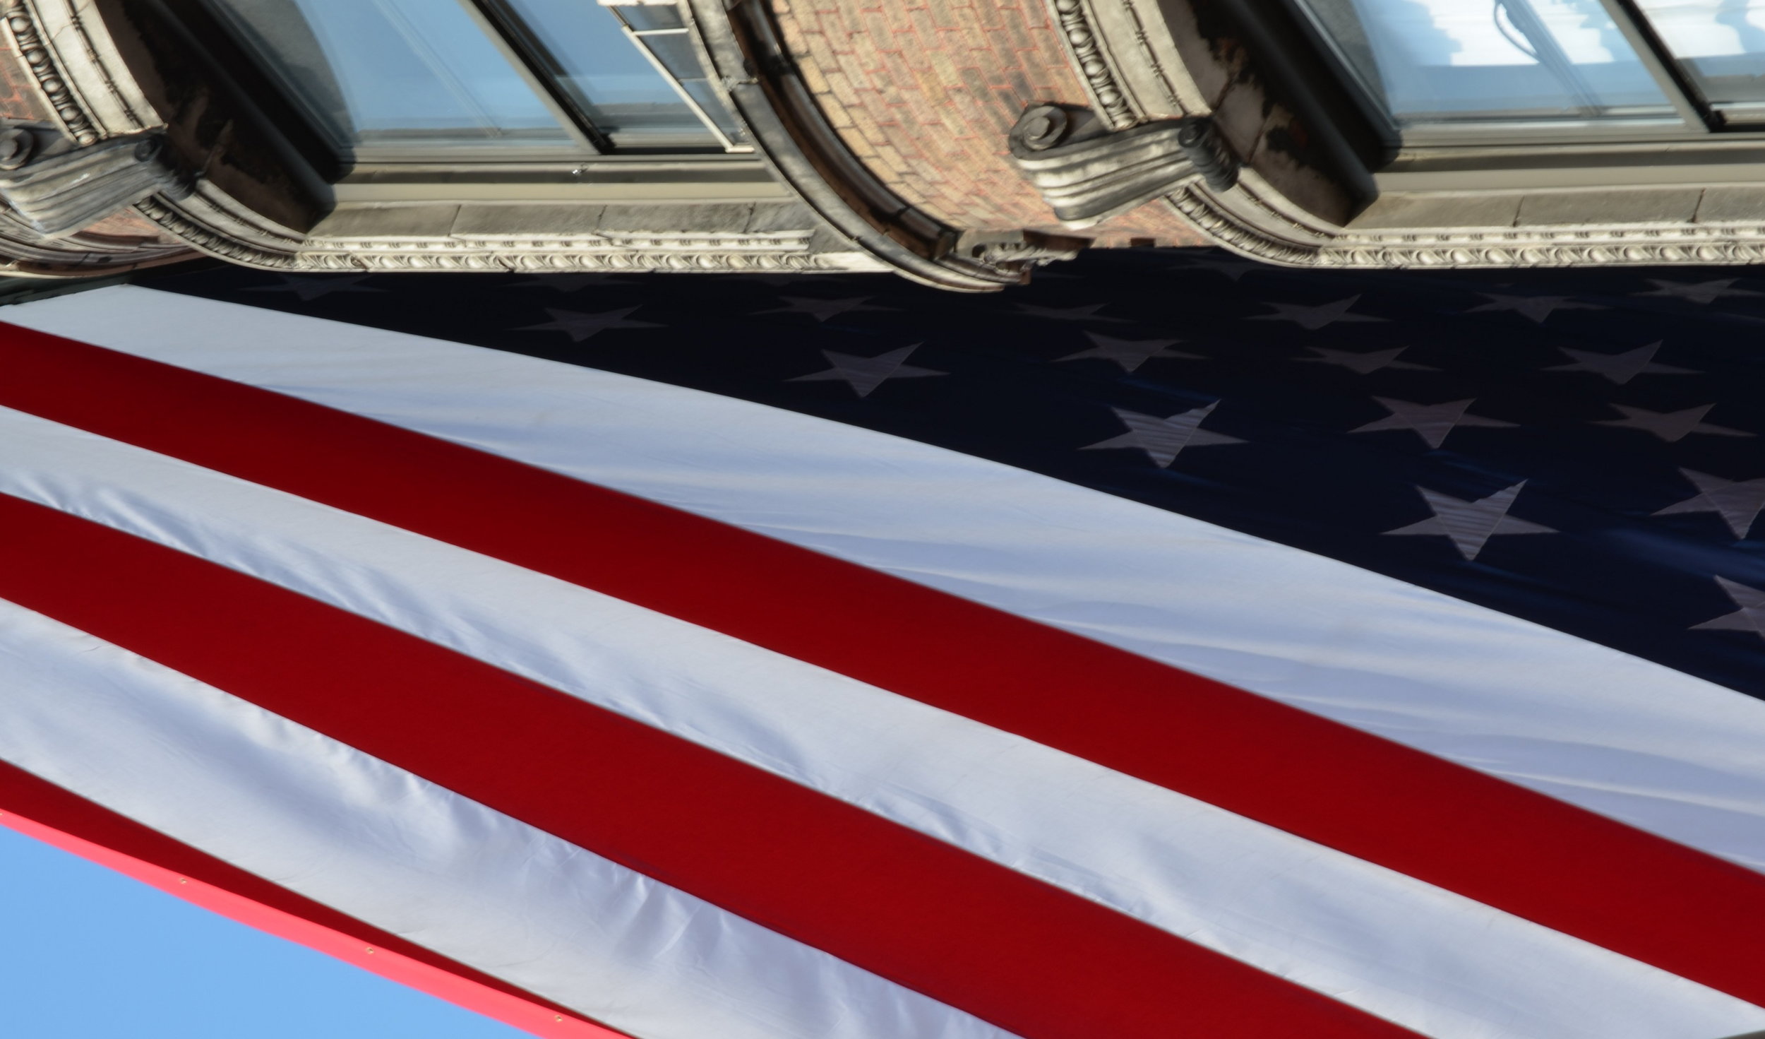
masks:
[[[531,1039],[7,829],[0,1016],[30,1039]]]

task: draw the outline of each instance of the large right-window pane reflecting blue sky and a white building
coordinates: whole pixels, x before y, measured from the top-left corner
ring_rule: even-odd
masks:
[[[1599,0],[1301,0],[1400,129],[1673,118]]]

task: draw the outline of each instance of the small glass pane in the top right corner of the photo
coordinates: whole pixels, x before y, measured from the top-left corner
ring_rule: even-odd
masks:
[[[1765,117],[1765,0],[1638,0],[1638,7],[1717,111],[1756,110],[1749,122]]]

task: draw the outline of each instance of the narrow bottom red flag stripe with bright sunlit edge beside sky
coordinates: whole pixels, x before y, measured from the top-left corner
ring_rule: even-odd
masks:
[[[5,762],[0,806],[4,827],[505,1025],[544,1039],[623,1039],[572,1009],[302,898]]]

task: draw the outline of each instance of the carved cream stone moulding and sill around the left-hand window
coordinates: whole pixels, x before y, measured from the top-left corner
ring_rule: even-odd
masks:
[[[166,125],[92,0],[4,0],[0,11],[53,113],[56,125],[44,129],[60,131],[67,147]],[[35,242],[4,228],[0,251],[26,260],[14,265],[21,274],[124,270],[175,262],[192,247],[279,270],[886,270],[830,233],[754,155],[394,163],[349,170],[334,184],[298,163],[298,148],[282,157],[318,196],[318,223],[267,217],[198,175],[184,198],[134,205],[164,244],[118,258],[99,254],[90,235]],[[452,217],[438,219],[443,212]]]

